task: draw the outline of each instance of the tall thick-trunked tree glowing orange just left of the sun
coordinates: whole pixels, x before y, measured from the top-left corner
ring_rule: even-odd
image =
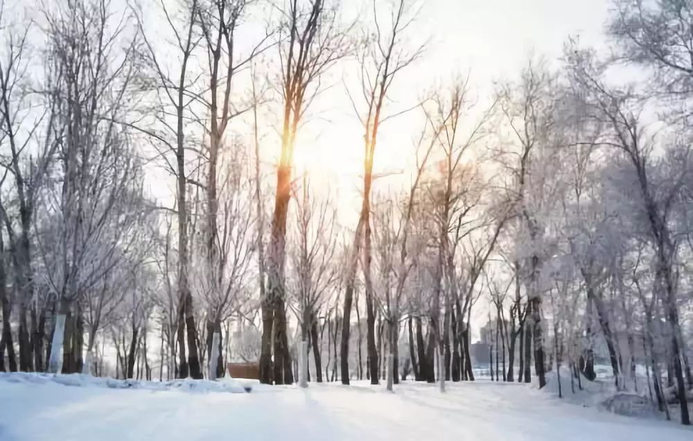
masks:
[[[263,299],[263,339],[260,380],[293,383],[286,335],[285,261],[286,220],[291,167],[299,125],[322,89],[320,77],[349,49],[348,31],[340,28],[337,5],[324,0],[289,0],[280,10],[279,58],[283,120],[281,155],[277,167],[277,193],[267,254],[267,292]],[[274,336],[274,338],[272,338]],[[272,370],[272,340],[274,369]],[[273,371],[273,372],[272,372]]]

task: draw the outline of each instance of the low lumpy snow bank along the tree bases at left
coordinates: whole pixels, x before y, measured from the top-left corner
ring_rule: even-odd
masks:
[[[209,381],[179,379],[172,381],[116,380],[109,377],[92,377],[85,374],[42,374],[35,372],[0,372],[0,383],[45,384],[57,383],[62,386],[80,388],[142,389],[142,390],[185,390],[188,392],[231,392],[246,393],[252,386],[235,380]]]

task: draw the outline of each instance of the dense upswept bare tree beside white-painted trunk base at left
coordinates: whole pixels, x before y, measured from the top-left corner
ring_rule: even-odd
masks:
[[[106,0],[59,2],[46,10],[46,35],[60,65],[50,123],[62,173],[59,184],[41,194],[46,210],[37,218],[46,282],[60,302],[51,372],[60,372],[61,364],[66,372],[81,370],[78,300],[119,260],[116,249],[129,239],[128,227],[109,228],[112,216],[138,217],[118,203],[137,191],[141,175],[127,130],[114,123],[128,112],[125,96],[134,77],[130,55],[137,35],[128,33],[127,15],[115,23],[110,17]],[[124,52],[116,55],[122,44]],[[60,361],[60,349],[67,365]]]

